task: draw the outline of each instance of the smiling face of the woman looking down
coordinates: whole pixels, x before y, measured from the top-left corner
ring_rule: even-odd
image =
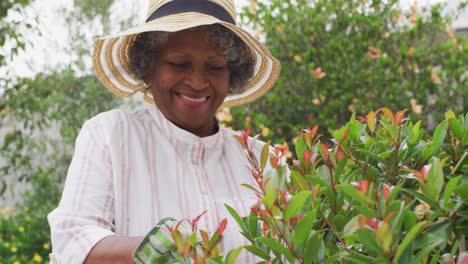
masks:
[[[228,93],[229,68],[205,33],[169,34],[147,80],[167,119],[200,137],[213,134],[214,115]]]

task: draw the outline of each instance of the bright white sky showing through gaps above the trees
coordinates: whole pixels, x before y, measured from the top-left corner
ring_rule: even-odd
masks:
[[[126,19],[129,15],[127,10],[133,10],[133,13],[138,13],[137,16],[141,17],[140,21],[144,20],[148,0],[120,0],[115,2],[112,7],[112,13],[115,15],[112,19]],[[239,8],[249,2],[249,0],[239,0],[236,1],[236,5]],[[424,6],[440,2],[448,3],[449,9],[453,10],[460,0],[418,0],[418,5]],[[409,8],[412,3],[413,0],[401,0],[404,8]],[[71,9],[72,6],[73,0],[34,1],[31,7],[26,10],[26,14],[28,17],[34,17],[34,14],[41,14],[37,26],[42,35],[36,32],[29,33],[27,38],[33,44],[32,47],[28,47],[26,52],[20,52],[14,61],[9,64],[8,68],[0,69],[0,75],[12,74],[13,76],[33,77],[38,71],[47,71],[57,65],[66,65],[76,59],[68,55],[68,47],[64,46],[64,43],[68,43],[67,30],[64,26],[65,18],[63,15],[60,16],[60,14],[63,14],[63,10]],[[15,19],[14,14],[12,15],[12,19]],[[454,21],[452,26],[455,28],[467,28],[468,10],[458,20]],[[92,34],[92,32],[89,33]],[[0,50],[0,52],[2,51]],[[6,51],[3,51],[3,53],[6,53]],[[86,61],[85,63],[91,63],[91,61]]]

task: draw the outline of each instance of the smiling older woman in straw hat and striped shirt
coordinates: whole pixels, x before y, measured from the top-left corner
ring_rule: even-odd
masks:
[[[165,217],[207,210],[199,228],[214,232],[229,218],[224,204],[248,213],[251,195],[241,187],[251,182],[248,162],[215,113],[263,95],[279,63],[235,19],[230,0],[154,0],[143,25],[97,40],[102,83],[119,96],[142,92],[151,104],[82,127],[62,199],[48,216],[52,263],[132,263],[132,251]],[[225,250],[246,243],[234,223]]]

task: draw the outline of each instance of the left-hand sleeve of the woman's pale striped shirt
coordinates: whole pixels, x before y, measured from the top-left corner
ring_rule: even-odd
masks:
[[[48,215],[51,263],[83,263],[104,237],[113,232],[112,162],[99,122],[81,129],[59,206]]]

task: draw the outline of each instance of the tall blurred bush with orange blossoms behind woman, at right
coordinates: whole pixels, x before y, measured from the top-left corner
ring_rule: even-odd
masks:
[[[441,113],[465,111],[467,37],[449,27],[443,4],[405,11],[401,2],[252,0],[242,22],[282,70],[264,97],[231,109],[232,126],[267,128],[282,142],[302,127],[320,124],[325,133],[381,105],[410,109],[429,130]]]

